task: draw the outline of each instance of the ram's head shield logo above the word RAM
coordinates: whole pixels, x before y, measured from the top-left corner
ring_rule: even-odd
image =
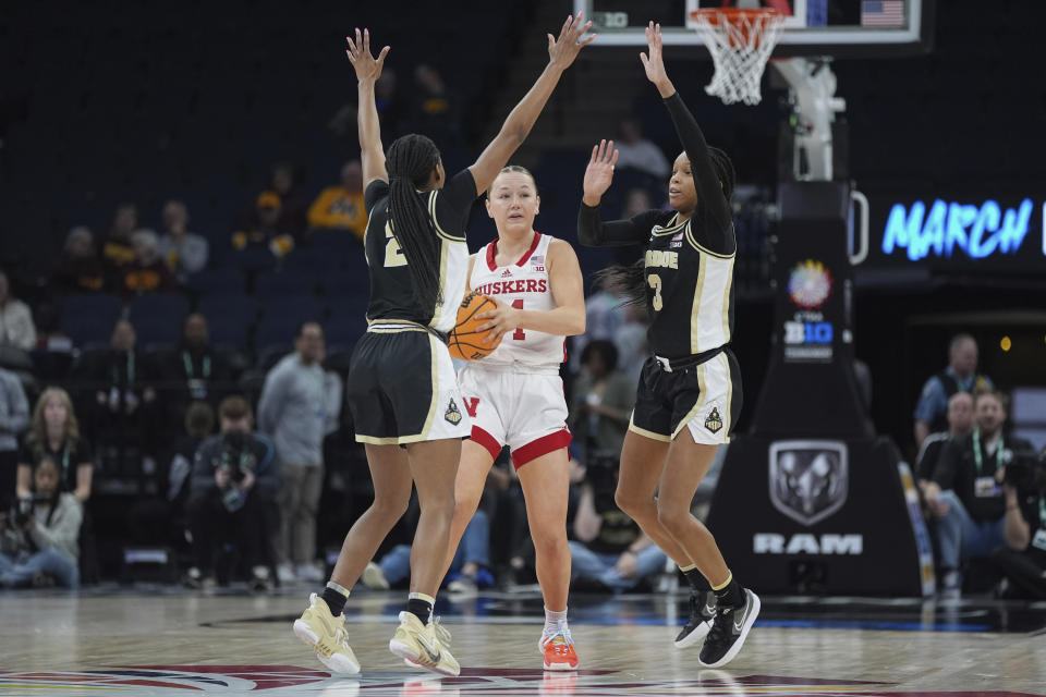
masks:
[[[788,517],[813,525],[847,502],[847,444],[835,440],[779,440],[770,444],[770,502]]]

